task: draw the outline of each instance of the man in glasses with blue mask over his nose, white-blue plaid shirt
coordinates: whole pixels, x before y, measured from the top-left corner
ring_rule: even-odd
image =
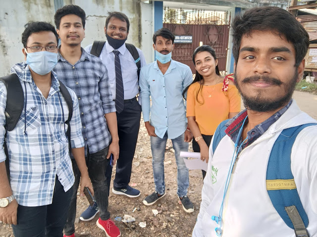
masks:
[[[49,23],[26,25],[22,34],[26,62],[15,64],[10,76],[21,83],[23,94],[16,93],[16,97],[24,95],[23,111],[13,130],[6,130],[11,90],[0,82],[0,221],[13,224],[15,237],[62,237],[75,180],[68,137],[81,172],[81,193],[86,186],[93,193],[76,94],[69,88],[61,92],[52,71],[57,63],[57,40]],[[64,94],[72,101],[72,117],[67,123],[70,112]],[[68,125],[70,136],[66,135]],[[3,149],[5,137],[8,156]]]

